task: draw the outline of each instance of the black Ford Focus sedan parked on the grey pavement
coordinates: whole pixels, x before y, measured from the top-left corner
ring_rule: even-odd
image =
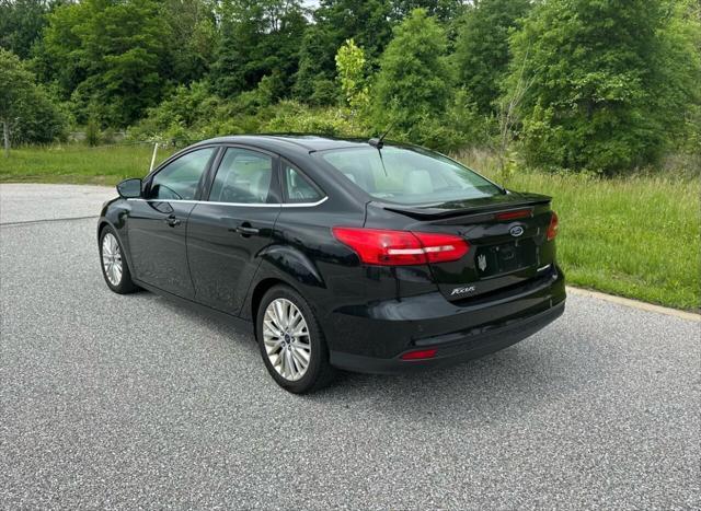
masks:
[[[105,281],[237,318],[284,388],[505,348],[564,310],[550,197],[382,140],[223,137],[117,186]]]

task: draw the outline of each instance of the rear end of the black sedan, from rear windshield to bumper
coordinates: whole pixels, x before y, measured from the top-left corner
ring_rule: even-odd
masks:
[[[337,151],[327,161],[371,200],[364,225],[332,230],[355,255],[353,286],[361,289],[329,321],[333,364],[397,372],[457,362],[562,314],[549,197],[506,191],[421,150],[346,156]]]

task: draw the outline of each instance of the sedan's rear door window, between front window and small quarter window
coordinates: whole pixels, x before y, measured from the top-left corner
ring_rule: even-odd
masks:
[[[229,148],[211,184],[212,202],[265,204],[271,194],[273,158],[250,149]]]

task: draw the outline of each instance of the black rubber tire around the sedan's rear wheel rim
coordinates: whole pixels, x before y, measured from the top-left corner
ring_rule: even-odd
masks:
[[[273,362],[271,362],[271,359],[268,358],[263,337],[265,311],[273,301],[280,298],[290,301],[301,312],[303,321],[307,322],[307,328],[309,332],[308,337],[311,348],[309,365],[307,367],[303,375],[296,381],[284,378],[273,367]],[[271,373],[271,376],[273,376],[273,380],[275,380],[279,386],[294,394],[306,394],[318,391],[331,383],[335,375],[335,371],[329,363],[329,348],[326,346],[326,340],[321,327],[319,326],[319,321],[317,320],[314,312],[301,294],[288,286],[279,284],[271,288],[261,300],[255,323],[256,338],[261,349],[263,363],[265,363],[268,373]]]

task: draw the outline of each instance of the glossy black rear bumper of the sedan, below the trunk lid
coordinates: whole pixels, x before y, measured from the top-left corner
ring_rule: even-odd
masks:
[[[332,365],[357,372],[399,373],[443,367],[512,346],[564,312],[564,276],[556,268],[507,295],[459,306],[436,293],[342,307],[323,325]],[[434,358],[402,360],[412,350]]]

